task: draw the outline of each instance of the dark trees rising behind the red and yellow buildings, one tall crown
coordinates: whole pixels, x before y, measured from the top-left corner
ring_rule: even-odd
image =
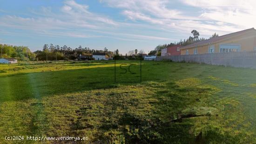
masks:
[[[168,46],[188,46],[190,44],[193,44],[195,42],[198,42],[198,41],[203,41],[203,40],[207,40],[205,38],[200,38],[199,39],[199,32],[196,31],[196,30],[193,30],[191,31],[191,33],[193,34],[193,36],[189,36],[188,39],[184,39],[184,40],[180,40],[179,42],[171,42],[169,44],[164,44],[164,45],[158,45],[155,47],[155,50],[153,51],[150,51],[148,53],[148,55],[157,55],[157,56],[161,56],[161,50],[168,47]],[[215,37],[218,37],[219,35],[214,33],[209,39],[212,39],[212,38],[215,38]]]

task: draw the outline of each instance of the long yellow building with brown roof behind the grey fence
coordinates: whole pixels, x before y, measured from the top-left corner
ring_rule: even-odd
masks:
[[[236,33],[195,42],[180,48],[181,55],[213,52],[256,51],[256,30],[250,28]]]

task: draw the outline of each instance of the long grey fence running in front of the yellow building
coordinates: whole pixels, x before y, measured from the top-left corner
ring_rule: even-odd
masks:
[[[256,52],[222,52],[156,57],[156,60],[256,68]]]

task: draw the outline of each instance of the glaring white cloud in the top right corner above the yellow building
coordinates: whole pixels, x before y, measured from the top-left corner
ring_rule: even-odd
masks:
[[[236,29],[256,26],[255,0],[182,0],[184,4],[203,9],[200,18],[231,24]]]

